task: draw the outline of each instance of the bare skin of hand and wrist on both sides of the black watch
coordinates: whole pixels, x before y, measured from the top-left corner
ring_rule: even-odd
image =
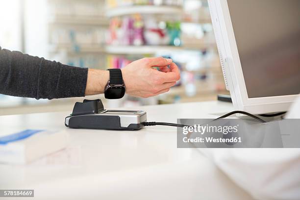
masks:
[[[153,67],[159,67],[160,71]],[[126,93],[142,98],[168,92],[180,79],[179,69],[172,59],[163,57],[136,60],[122,69],[122,75]],[[85,95],[103,93],[108,79],[108,71],[89,69]]]

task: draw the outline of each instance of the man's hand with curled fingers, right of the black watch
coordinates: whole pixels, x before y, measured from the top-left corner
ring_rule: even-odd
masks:
[[[153,67],[159,67],[161,71]],[[179,69],[172,59],[163,57],[136,60],[122,69],[122,75],[126,93],[142,98],[168,92],[180,79]]]

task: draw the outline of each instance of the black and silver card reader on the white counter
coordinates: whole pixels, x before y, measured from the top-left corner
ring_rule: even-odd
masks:
[[[76,102],[72,114],[65,119],[65,125],[70,128],[110,130],[138,130],[145,122],[145,111],[105,110],[99,99]]]

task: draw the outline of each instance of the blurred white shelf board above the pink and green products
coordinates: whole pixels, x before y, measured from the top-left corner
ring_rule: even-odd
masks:
[[[167,5],[132,5],[108,8],[106,11],[107,17],[116,17],[131,14],[182,14],[181,6]]]

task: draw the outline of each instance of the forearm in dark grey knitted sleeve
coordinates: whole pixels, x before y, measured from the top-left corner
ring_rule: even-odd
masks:
[[[82,97],[87,68],[0,49],[0,94],[35,99]]]

